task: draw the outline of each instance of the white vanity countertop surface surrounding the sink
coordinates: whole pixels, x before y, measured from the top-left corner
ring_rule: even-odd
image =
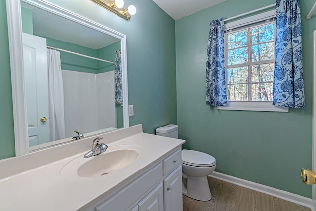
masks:
[[[122,131],[123,130],[124,129],[122,129]],[[107,136],[107,134],[103,135],[103,137],[105,136]],[[106,138],[104,138],[102,142],[108,144],[105,140]],[[39,166],[35,169],[28,169],[6,178],[0,178],[0,210],[77,210],[100,195],[107,192],[109,193],[118,187],[119,184],[137,172],[141,172],[141,170],[145,169],[148,165],[153,164],[170,150],[179,147],[183,143],[184,140],[141,132],[108,144],[109,149],[111,146],[129,144],[140,146],[142,150],[135,162],[129,166],[99,178],[91,179],[79,177],[72,179],[64,178],[60,174],[60,170],[67,163],[78,156],[83,156],[86,151]],[[43,153],[39,153],[37,159],[44,159],[42,158],[43,155]],[[32,156],[34,159],[37,154],[33,153]],[[12,165],[14,159],[15,158],[9,161],[12,166],[10,168],[17,168]],[[5,160],[3,162],[5,162]],[[21,159],[19,162],[20,164],[17,166],[21,166]],[[28,164],[26,163],[25,165]],[[4,165],[2,165],[2,167],[3,166]],[[1,171],[2,170],[3,169],[1,169]]]

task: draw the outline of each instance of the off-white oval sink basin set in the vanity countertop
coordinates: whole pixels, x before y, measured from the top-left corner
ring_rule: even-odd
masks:
[[[64,178],[99,178],[126,168],[139,157],[141,149],[132,145],[110,146],[106,152],[90,158],[83,155],[67,163],[60,171]]]

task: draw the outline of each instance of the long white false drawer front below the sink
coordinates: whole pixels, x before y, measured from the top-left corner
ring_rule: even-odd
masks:
[[[136,204],[148,190],[150,190],[162,178],[162,164],[159,163],[146,171],[127,187],[120,190],[110,199],[96,206],[96,211],[126,211],[131,205]]]

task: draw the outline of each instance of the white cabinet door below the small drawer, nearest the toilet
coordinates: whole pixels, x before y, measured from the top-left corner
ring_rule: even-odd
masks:
[[[164,211],[182,211],[182,169],[172,171],[164,180]]]

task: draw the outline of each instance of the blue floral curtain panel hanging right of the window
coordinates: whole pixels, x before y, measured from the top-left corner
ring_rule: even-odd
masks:
[[[301,12],[298,0],[276,0],[273,105],[305,107]]]

